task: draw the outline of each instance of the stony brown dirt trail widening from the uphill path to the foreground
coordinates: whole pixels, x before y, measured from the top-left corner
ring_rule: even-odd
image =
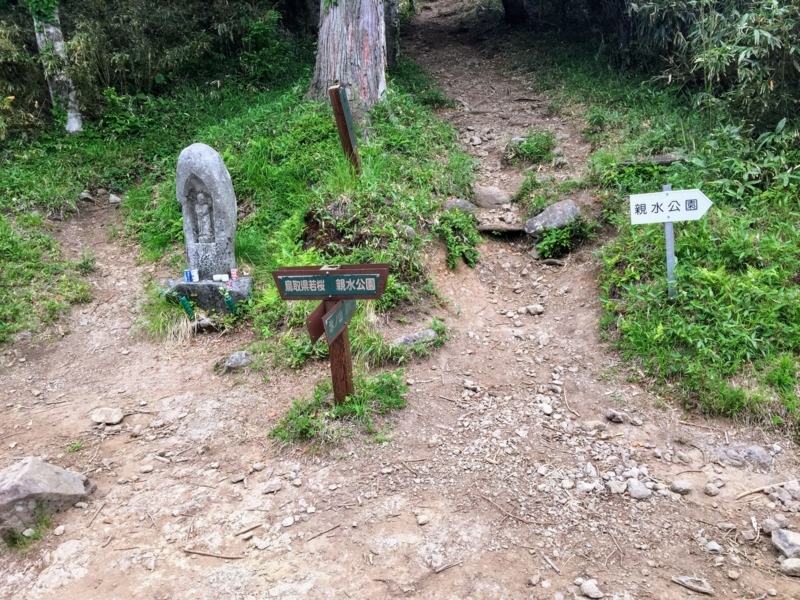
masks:
[[[588,156],[580,123],[549,117],[547,100],[510,74],[509,54],[489,58],[471,41],[458,9],[421,5],[403,48],[461,100],[442,116],[465,140],[485,137],[469,146],[483,161],[481,182],[518,185],[502,148],[537,124],[568,136],[570,166],[551,174],[580,174]],[[487,96],[490,112],[478,112]],[[772,588],[800,598],[777,573],[767,537],[740,538],[780,502],[735,500],[791,479],[793,445],[724,420],[681,425],[678,408],[629,383],[599,339],[593,248],[558,268],[534,261],[525,240],[487,240],[479,267],[455,272],[437,253],[436,285],[458,307],[440,311],[452,339],[407,368],[409,406],[391,441],[346,440],[313,455],[281,449],[267,432],[292,396],[328,376],[327,365],[219,377],[215,360],[249,334],[205,335],[172,350],[132,336],[144,282],[174,274],[137,264],[136,248],[109,240],[117,223],[113,209],[89,207],[63,224],[69,252],[90,247],[98,256],[96,300],[74,311],[63,337],[20,341],[2,357],[0,466],[45,455],[86,472],[98,490],[88,508],[55,516],[64,536],[0,557],[0,598],[563,600],[580,596],[578,577],[596,579],[606,597],[689,597],[670,581],[679,575],[706,578],[717,597],[760,598]],[[519,312],[532,304],[544,314]],[[386,325],[383,334],[419,325]],[[100,405],[130,414],[101,431],[87,417]],[[609,408],[626,422],[608,422]],[[84,449],[66,452],[76,441]],[[774,458],[754,455],[762,468],[745,460],[747,448],[774,443],[783,447]],[[239,474],[246,479],[232,483]],[[659,489],[676,478],[694,491]],[[612,493],[627,479],[652,495]],[[276,480],[281,489],[263,493]],[[725,484],[715,497],[702,492],[712,480]],[[796,513],[786,514],[795,528]],[[256,525],[252,539],[236,535]],[[712,541],[723,554],[708,551]]]

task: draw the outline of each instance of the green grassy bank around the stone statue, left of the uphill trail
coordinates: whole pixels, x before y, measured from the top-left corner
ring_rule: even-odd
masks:
[[[36,326],[37,315],[52,322],[70,303],[89,298],[80,278],[58,276],[90,273],[93,255],[75,265],[58,261],[44,216],[25,224],[32,210],[68,214],[84,189],[123,196],[124,235],[138,242],[146,260],[162,260],[180,274],[183,231],[174,173],[180,150],[192,142],[219,150],[231,172],[244,215],[237,262],[256,280],[242,316],[264,338],[299,331],[310,308],[279,298],[270,271],[282,265],[389,262],[390,280],[376,311],[432,297],[425,248],[436,233],[429,224],[442,199],[470,195],[474,162],[460,150],[455,130],[432,112],[451,102],[430,77],[407,59],[389,76],[385,100],[368,128],[358,130],[361,177],[342,154],[330,107],[305,99],[307,74],[268,92],[237,84],[185,87],[161,98],[109,92],[104,121],[89,123],[80,136],[52,130],[6,142],[0,147],[0,244],[16,246],[10,252],[0,246],[0,261],[10,266],[22,253],[39,254],[29,261],[31,269],[19,277],[12,272],[0,284],[0,341]],[[332,205],[344,208],[341,218],[328,210]],[[109,239],[121,233],[114,228]],[[446,233],[459,238],[460,255],[474,264],[480,241],[474,223]],[[47,285],[37,286],[39,280]],[[151,337],[175,337],[185,323],[173,308],[151,297],[140,328]],[[359,331],[367,335],[371,328],[356,331],[356,345]],[[369,349],[374,340],[362,345],[375,351]],[[291,354],[321,356],[299,342]]]

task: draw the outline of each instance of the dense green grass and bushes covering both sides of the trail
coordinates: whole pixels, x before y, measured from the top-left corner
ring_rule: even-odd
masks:
[[[44,79],[28,6],[0,2],[0,341],[52,322],[89,289],[92,257],[63,261],[47,217],[67,214],[83,189],[124,193],[127,235],[147,258],[180,270],[173,172],[179,150],[203,141],[223,152],[244,219],[237,255],[259,280],[278,264],[389,260],[385,300],[356,317],[367,361],[394,355],[369,323],[374,311],[433,290],[424,248],[443,240],[449,262],[477,259],[474,222],[437,213],[468,195],[472,165],[431,108],[448,100],[414,65],[360,132],[364,176],[341,156],[329,109],[304,101],[313,58],[302,3],[89,0],[59,3],[65,65],[87,116],[66,138]],[[593,186],[614,235],[602,250],[604,328],[647,378],[709,412],[798,422],[800,353],[800,1],[527,1],[516,32],[550,109],[577,112],[595,149],[591,178],[542,184],[520,198],[542,209],[569,186]],[[290,11],[290,9],[292,9]],[[506,32],[499,0],[489,15]],[[289,11],[289,12],[287,12]],[[295,21],[293,32],[284,27]],[[283,18],[282,15],[283,14]],[[489,40],[491,46],[491,40]],[[533,132],[507,158],[549,158]],[[673,153],[657,166],[637,159]],[[679,295],[664,283],[663,229],[631,227],[627,196],[664,184],[700,187],[715,206],[676,227]],[[589,224],[551,232],[540,252],[567,251]],[[574,238],[574,239],[573,239]],[[541,245],[541,243],[540,243]],[[174,257],[174,258],[170,258]],[[304,303],[266,286],[249,317],[275,355],[299,366],[324,352],[304,342]]]

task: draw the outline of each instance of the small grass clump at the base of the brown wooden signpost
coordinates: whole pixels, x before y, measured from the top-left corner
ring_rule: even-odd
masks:
[[[317,384],[310,399],[295,400],[286,416],[270,432],[270,437],[283,442],[336,443],[358,432],[378,433],[377,416],[399,410],[406,405],[403,395],[408,388],[403,372],[393,371],[374,377],[359,374],[355,378],[355,394],[341,404],[333,402],[330,381]]]

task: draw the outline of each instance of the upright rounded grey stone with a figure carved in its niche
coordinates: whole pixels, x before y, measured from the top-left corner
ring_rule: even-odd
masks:
[[[230,273],[236,268],[236,194],[219,152],[205,144],[184,148],[175,184],[189,269],[208,280]]]

